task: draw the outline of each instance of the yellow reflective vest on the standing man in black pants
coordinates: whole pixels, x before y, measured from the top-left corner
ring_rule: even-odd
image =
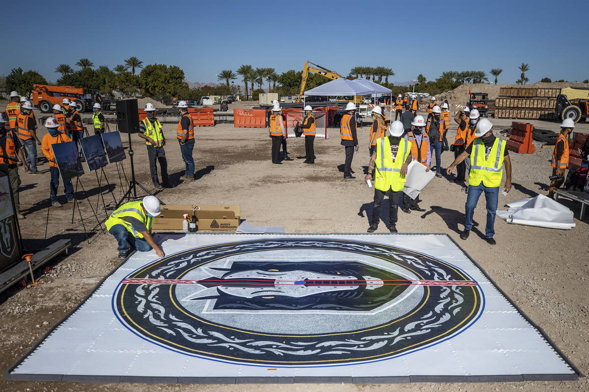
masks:
[[[374,179],[374,187],[376,189],[385,192],[389,189],[393,192],[403,190],[405,176],[401,177],[401,167],[407,160],[410,151],[411,142],[401,138],[395,162],[393,162],[389,137],[385,136],[376,140],[376,173]]]

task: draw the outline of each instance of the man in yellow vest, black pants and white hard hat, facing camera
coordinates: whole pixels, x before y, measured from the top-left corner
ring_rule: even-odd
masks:
[[[422,118],[423,120],[423,118]],[[365,182],[372,180],[372,170],[376,172],[374,179],[374,200],[372,205],[372,220],[369,233],[378,229],[380,222],[380,209],[385,199],[386,192],[389,192],[389,231],[397,232],[397,212],[399,206],[399,193],[405,184],[407,167],[411,162],[411,142],[403,139],[403,123],[393,121],[388,127],[388,135],[376,140],[376,150],[370,157],[368,163],[368,174],[364,177]]]

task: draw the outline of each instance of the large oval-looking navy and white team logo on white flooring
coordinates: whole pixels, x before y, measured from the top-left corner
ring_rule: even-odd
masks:
[[[221,243],[131,273],[113,297],[131,331],[180,353],[335,366],[410,353],[479,316],[477,282],[425,254],[348,239]]]

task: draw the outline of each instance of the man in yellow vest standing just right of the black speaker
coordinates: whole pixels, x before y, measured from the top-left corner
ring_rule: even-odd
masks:
[[[151,181],[157,189],[170,187],[170,183],[168,183],[168,161],[164,151],[166,138],[164,138],[164,133],[161,132],[160,120],[155,118],[155,106],[153,106],[153,103],[148,102],[145,104],[145,112],[147,117],[139,122],[138,135],[141,139],[145,139]],[[157,179],[157,162],[160,162],[161,183]]]

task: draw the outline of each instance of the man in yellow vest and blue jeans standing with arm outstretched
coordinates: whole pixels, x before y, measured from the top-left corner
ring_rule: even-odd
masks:
[[[507,142],[493,135],[493,125],[488,119],[482,119],[475,128],[475,139],[461,155],[452,162],[446,169],[450,175],[454,166],[464,159],[471,161],[471,171],[468,175],[468,196],[466,197],[466,222],[464,230],[460,234],[465,240],[471,232],[472,216],[481,193],[485,193],[487,200],[487,225],[485,226],[485,241],[494,245],[497,242],[493,239],[495,235],[495,212],[499,199],[499,186],[503,177],[503,166],[505,165],[505,192],[511,190],[511,161]]]

